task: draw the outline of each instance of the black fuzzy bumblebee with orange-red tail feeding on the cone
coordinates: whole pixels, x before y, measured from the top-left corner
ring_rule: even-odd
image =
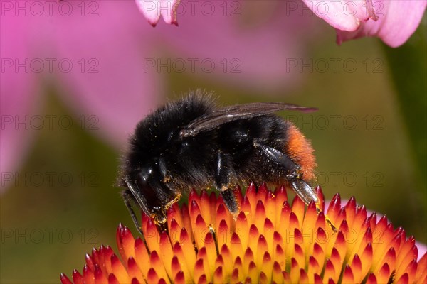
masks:
[[[190,188],[214,186],[232,214],[239,182],[286,183],[306,203],[318,202],[309,185],[315,158],[310,142],[290,121],[273,113],[315,111],[281,102],[218,108],[201,90],[160,107],[137,124],[120,173],[135,226],[137,204],[156,224]]]

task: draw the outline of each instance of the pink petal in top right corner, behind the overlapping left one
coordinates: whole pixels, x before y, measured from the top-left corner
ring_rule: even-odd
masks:
[[[378,21],[361,23],[356,31],[337,30],[337,43],[363,36],[377,36],[393,48],[402,45],[419,26],[426,11],[424,0],[374,1]]]

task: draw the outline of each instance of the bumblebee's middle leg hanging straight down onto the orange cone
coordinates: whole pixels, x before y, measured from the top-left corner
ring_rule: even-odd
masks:
[[[227,157],[221,151],[218,151],[216,155],[216,172],[215,172],[215,184],[223,197],[224,203],[231,214],[237,216],[238,204],[236,196],[233,190],[230,188],[231,176],[233,171],[228,167]]]

